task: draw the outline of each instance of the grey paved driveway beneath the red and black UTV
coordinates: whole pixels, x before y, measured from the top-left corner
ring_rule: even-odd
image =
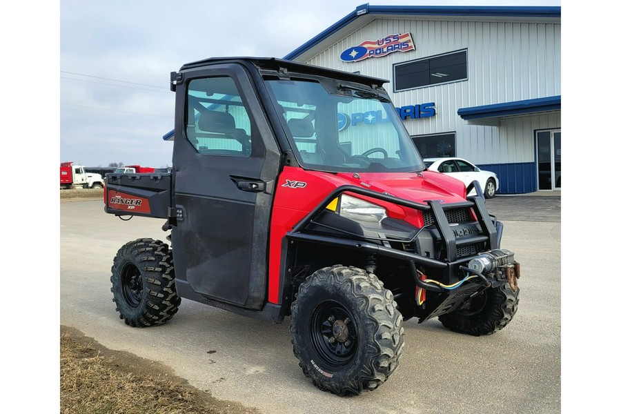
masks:
[[[184,300],[163,326],[126,326],[110,293],[112,258],[130,240],[166,233],[163,220],[107,215],[101,200],[61,203],[61,324],[264,414],[560,413],[560,197],[498,196],[486,206],[504,223],[502,247],[522,266],[520,309],[511,324],[470,337],[437,319],[410,319],[400,368],[359,397],[324,393],[304,377],[288,321],[269,324]]]

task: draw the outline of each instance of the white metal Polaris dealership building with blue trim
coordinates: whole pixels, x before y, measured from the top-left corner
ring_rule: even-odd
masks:
[[[494,171],[499,194],[560,190],[560,14],[364,4],[284,59],[387,79],[421,154]]]

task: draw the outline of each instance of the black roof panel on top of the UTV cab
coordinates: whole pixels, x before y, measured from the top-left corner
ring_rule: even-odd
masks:
[[[302,72],[311,75],[337,77],[345,81],[353,81],[367,85],[382,86],[384,83],[388,82],[386,79],[359,75],[357,73],[345,72],[343,70],[328,69],[321,66],[309,65],[307,63],[299,63],[286,59],[277,59],[275,57],[210,57],[209,59],[186,63],[184,66],[181,66],[179,71],[199,68],[200,66],[213,63],[242,63],[255,66],[259,69],[286,70],[288,72]]]

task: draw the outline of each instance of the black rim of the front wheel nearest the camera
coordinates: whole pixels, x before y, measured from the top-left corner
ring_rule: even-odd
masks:
[[[350,362],[358,345],[351,313],[338,302],[319,304],[311,316],[311,342],[326,364],[344,366]]]

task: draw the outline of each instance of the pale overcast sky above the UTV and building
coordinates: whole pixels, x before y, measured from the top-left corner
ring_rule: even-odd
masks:
[[[60,159],[172,165],[170,72],[222,56],[284,57],[364,0],[62,0]],[[560,6],[560,1],[369,1],[378,5]]]

